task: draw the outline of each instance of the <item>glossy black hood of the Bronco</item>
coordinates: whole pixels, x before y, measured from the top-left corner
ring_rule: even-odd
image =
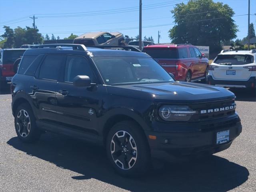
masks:
[[[186,103],[234,98],[234,94],[225,88],[189,82],[122,85],[109,88],[112,94],[159,102]]]

